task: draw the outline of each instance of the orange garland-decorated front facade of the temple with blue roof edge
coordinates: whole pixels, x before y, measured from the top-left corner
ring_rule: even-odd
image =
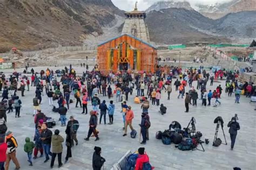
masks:
[[[113,38],[98,45],[98,66],[102,71],[135,70],[154,73],[157,49],[130,35]]]

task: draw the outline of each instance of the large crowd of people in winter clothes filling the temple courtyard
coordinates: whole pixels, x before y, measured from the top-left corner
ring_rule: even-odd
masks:
[[[83,65],[81,64],[81,66]],[[31,79],[28,75],[31,76]],[[221,85],[216,88],[212,87],[214,80],[223,80],[223,77],[226,78],[225,89],[223,89]],[[5,112],[12,112],[14,109],[16,112],[15,118],[21,117],[22,101],[26,98],[25,89],[29,91],[32,90],[32,88],[29,87],[34,86],[36,90],[35,97],[33,97],[32,100],[32,119],[35,123],[35,137],[33,139],[35,143],[31,141],[30,138],[25,138],[24,151],[28,155],[30,166],[33,166],[32,153],[33,159],[37,159],[38,152],[40,152],[39,157],[44,156],[44,162],[48,162],[51,157],[51,168],[54,166],[56,157],[58,157],[58,167],[61,167],[63,165],[62,145],[64,141],[66,145],[65,162],[72,157],[71,148],[74,145],[78,145],[78,120],[76,120],[74,116],[70,116],[68,123],[66,123],[67,112],[71,109],[69,106],[70,103],[76,102],[75,107],[82,108],[81,114],[86,115],[89,112],[89,130],[84,139],[87,141],[90,137],[95,137],[95,141],[97,141],[100,139],[97,126],[103,122],[107,124],[106,115],[109,116],[108,124],[113,124],[117,104],[120,104],[122,107],[120,112],[122,112],[123,116],[123,136],[127,135],[128,126],[131,131],[134,131],[132,126],[134,118],[133,106],[127,105],[128,100],[134,100],[135,104],[141,104],[142,115],[139,124],[139,132],[142,135],[141,144],[146,144],[147,140],[149,140],[149,128],[151,126],[150,107],[159,107],[159,111],[162,115],[167,113],[167,108],[161,104],[161,100],[163,100],[163,93],[166,92],[166,99],[170,100],[172,84],[176,87],[175,90],[179,91],[177,98],[185,97],[185,112],[188,112],[190,105],[197,107],[198,100],[201,101],[201,105],[204,107],[211,105],[217,107],[217,104],[221,104],[220,100],[223,91],[228,93],[230,97],[232,97],[232,93],[234,93],[235,103],[239,103],[239,98],[242,93],[245,93],[246,97],[254,95],[255,86],[253,86],[253,83],[245,82],[240,86],[237,77],[238,72],[228,72],[225,69],[206,72],[203,66],[199,69],[188,68],[184,70],[178,67],[171,67],[170,73],[157,70],[155,74],[146,72],[142,74],[129,72],[110,72],[104,74],[98,70],[97,65],[92,71],[89,71],[86,66],[86,71],[83,72],[82,76],[78,76],[76,70],[72,68],[71,65],[70,68],[65,67],[63,70],[57,70],[56,72],[48,68],[42,70],[39,74],[31,69],[31,73],[23,76],[14,72],[10,77],[5,77],[3,74],[0,80],[0,90],[3,88],[0,119],[3,119],[1,124],[5,124],[5,122],[7,122]],[[196,88],[192,86],[193,82],[197,82]],[[207,86],[208,82],[210,82],[209,86]],[[18,96],[19,90],[21,90],[21,98]],[[135,97],[132,95],[133,91],[136,94]],[[41,110],[42,95],[44,94],[48,97],[49,106],[53,107],[53,101],[57,101],[58,103],[58,107],[53,107],[53,111],[59,113],[61,126],[66,126],[65,137],[60,135],[58,129],[53,133],[49,129],[49,126],[51,126],[51,122],[48,121],[49,117]],[[73,95],[73,97],[71,95]],[[100,100],[102,98],[101,96],[107,96],[110,99],[110,103],[108,104],[105,100]],[[75,98],[76,101],[73,101],[72,98]],[[88,111],[87,104],[92,105],[92,110]],[[230,126],[233,127],[231,124]],[[10,131],[11,127],[8,127],[8,129],[9,131],[4,133],[4,136],[0,137],[1,170],[4,167],[5,169],[9,168],[10,160],[14,162],[16,169],[20,168],[19,162],[16,159],[17,141],[14,137],[15,135]],[[235,137],[232,136],[231,138],[233,148]],[[5,154],[6,150],[7,154]],[[100,156],[100,152],[101,148],[96,146],[95,153],[93,153],[93,169],[100,169],[105,162],[105,159]],[[139,154],[142,155],[142,159],[148,159],[144,154],[144,149],[140,149]],[[136,169],[142,169],[142,159],[138,159]],[[5,166],[4,162],[6,162]]]

